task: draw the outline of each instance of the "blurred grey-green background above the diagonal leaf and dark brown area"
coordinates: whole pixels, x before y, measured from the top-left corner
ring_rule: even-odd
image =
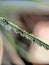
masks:
[[[39,6],[39,4],[41,5]],[[0,17],[7,18],[16,24],[19,21],[19,13],[22,11],[43,13],[45,10],[45,12],[49,12],[49,7],[44,7],[43,4],[47,6],[49,0],[0,0]]]

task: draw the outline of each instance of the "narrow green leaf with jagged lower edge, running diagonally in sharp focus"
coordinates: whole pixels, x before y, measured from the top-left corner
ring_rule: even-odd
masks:
[[[45,49],[49,50],[49,45],[47,45],[47,43],[43,42],[42,40],[40,40],[39,38],[37,38],[33,34],[30,34],[26,31],[22,30],[17,25],[15,25],[11,22],[8,22],[6,19],[0,18],[0,25],[6,31],[13,30],[16,34],[20,34],[22,37],[25,37],[26,39],[33,41],[33,42],[37,43],[39,46],[43,46]],[[0,28],[1,28],[1,26],[0,26]]]

